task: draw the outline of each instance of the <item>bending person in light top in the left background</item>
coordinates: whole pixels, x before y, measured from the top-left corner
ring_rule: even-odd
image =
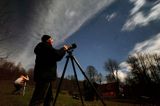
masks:
[[[22,88],[23,89],[23,95],[24,95],[24,90],[26,87],[26,82],[29,80],[28,75],[21,75],[19,78],[17,78],[14,81],[14,87],[15,90],[13,91],[13,94],[21,94]]]

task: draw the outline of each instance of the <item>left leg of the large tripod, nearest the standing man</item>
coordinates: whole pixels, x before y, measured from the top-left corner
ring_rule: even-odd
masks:
[[[67,56],[67,60],[66,60],[65,66],[64,66],[64,70],[63,70],[63,73],[62,73],[60,82],[59,82],[59,84],[58,84],[58,88],[57,88],[56,96],[55,96],[55,99],[54,99],[54,102],[53,102],[53,106],[55,106],[55,104],[56,104],[57,97],[58,97],[58,94],[59,94],[59,91],[60,91],[60,87],[61,87],[61,84],[62,84],[62,80],[63,80],[64,74],[65,74],[65,72],[66,72],[66,68],[67,68],[68,61],[69,61],[69,56]]]

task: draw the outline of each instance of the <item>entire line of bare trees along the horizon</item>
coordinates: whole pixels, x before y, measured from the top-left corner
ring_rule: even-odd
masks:
[[[118,62],[109,59],[104,63],[106,81],[117,83],[116,94],[121,96],[123,94],[126,98],[160,99],[160,55],[137,53],[129,56],[126,63],[128,73],[124,82],[121,82],[118,74],[120,70]],[[26,71],[20,63],[15,65],[7,59],[0,58],[0,79],[14,80],[26,72],[30,77],[29,82],[33,82],[33,69]],[[104,75],[99,73],[94,66],[88,66],[85,73],[91,82],[101,84],[104,81]],[[67,76],[66,79],[75,80],[74,75]],[[76,84],[73,83],[73,85]]]

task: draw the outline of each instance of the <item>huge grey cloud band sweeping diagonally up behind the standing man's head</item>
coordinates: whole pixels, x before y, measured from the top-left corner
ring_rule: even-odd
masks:
[[[1,46],[13,51],[10,60],[25,68],[34,64],[33,49],[43,34],[50,34],[58,45],[76,32],[87,20],[115,0],[36,0],[11,3],[16,11],[13,39]],[[36,3],[35,3],[36,2]],[[12,9],[13,9],[12,8]],[[12,28],[12,29],[13,29]],[[10,42],[10,43],[8,43]]]

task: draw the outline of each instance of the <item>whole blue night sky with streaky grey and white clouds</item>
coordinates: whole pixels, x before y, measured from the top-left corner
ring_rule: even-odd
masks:
[[[82,68],[92,65],[104,76],[108,59],[120,64],[123,78],[129,55],[160,50],[160,0],[6,0],[0,5],[0,14],[7,11],[0,17],[0,56],[26,69],[34,67],[33,50],[43,34],[52,35],[56,48],[76,43],[73,55]],[[58,63],[59,76],[65,61]]]

